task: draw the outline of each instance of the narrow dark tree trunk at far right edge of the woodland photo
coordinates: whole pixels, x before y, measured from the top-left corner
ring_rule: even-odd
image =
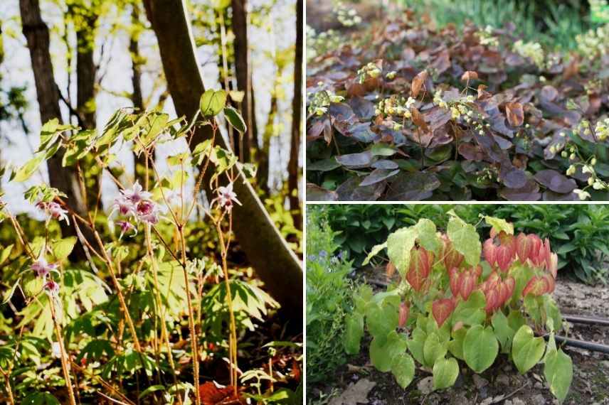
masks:
[[[302,0],[296,1],[296,54],[294,60],[294,98],[292,99],[292,140],[290,162],[287,163],[287,190],[290,193],[290,210],[294,225],[302,229],[302,210],[299,198],[300,131],[302,128]]]

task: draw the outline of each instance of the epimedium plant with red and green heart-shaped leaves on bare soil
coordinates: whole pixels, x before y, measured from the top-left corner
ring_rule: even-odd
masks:
[[[563,401],[573,365],[554,340],[562,328],[551,297],[558,258],[548,239],[484,220],[492,226],[484,243],[452,213],[445,233],[421,219],[374,247],[367,259],[386,249],[387,272],[397,271],[398,282],[376,294],[360,286],[346,317],[346,352],[359,353],[367,330],[372,364],[403,388],[415,362],[433,374],[434,389],[455,384],[460,361],[481,373],[507,355],[521,374],[542,362],[549,389]]]

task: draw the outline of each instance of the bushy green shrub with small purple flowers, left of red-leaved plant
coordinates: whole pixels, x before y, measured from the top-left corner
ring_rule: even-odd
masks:
[[[351,307],[351,270],[323,207],[307,210],[307,380],[316,382],[344,362],[344,317]]]

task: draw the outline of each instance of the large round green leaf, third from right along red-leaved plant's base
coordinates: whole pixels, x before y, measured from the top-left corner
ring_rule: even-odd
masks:
[[[463,357],[470,369],[477,373],[491,367],[499,353],[499,343],[492,328],[482,325],[472,326],[463,341]]]

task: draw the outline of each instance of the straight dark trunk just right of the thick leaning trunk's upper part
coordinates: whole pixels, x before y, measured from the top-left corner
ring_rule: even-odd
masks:
[[[242,161],[248,162],[251,159],[250,153],[252,140],[258,139],[258,128],[254,115],[252,71],[250,68],[250,48],[248,46],[248,0],[232,0],[233,9],[233,34],[235,35],[235,72],[237,76],[238,90],[244,92],[243,102],[241,102],[241,115],[248,131],[243,134],[243,138],[235,131],[235,154],[243,156]]]

